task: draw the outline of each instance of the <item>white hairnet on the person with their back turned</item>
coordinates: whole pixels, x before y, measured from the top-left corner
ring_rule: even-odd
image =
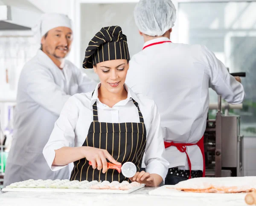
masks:
[[[140,0],[134,19],[143,34],[162,36],[174,26],[176,9],[171,0]]]

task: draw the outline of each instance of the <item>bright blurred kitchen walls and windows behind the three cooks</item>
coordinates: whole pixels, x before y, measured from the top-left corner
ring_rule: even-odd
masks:
[[[31,27],[45,12],[67,14],[74,21],[74,41],[68,59],[81,68],[91,36],[103,26],[119,25],[128,37],[131,56],[143,47],[133,10],[137,0],[0,0],[0,123],[6,134],[5,152],[0,151],[0,175],[12,143],[13,109],[20,71],[40,44]],[[204,44],[229,68],[246,72],[243,109],[230,110],[241,116],[244,135],[244,175],[256,175],[256,1],[173,0],[177,21],[171,40]],[[2,10],[10,6],[13,19]],[[26,15],[22,15],[26,12]],[[19,15],[18,15],[19,14]],[[17,15],[17,16],[15,16]],[[30,17],[30,18],[29,18]],[[33,18],[32,18],[33,17]],[[83,70],[97,80],[92,70]],[[211,103],[217,95],[210,89]],[[216,110],[209,111],[215,118]],[[0,135],[3,143],[4,136]]]

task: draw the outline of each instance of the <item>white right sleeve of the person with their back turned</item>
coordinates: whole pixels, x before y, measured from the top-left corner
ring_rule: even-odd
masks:
[[[228,103],[239,104],[245,92],[241,83],[229,74],[225,65],[206,46],[202,46],[207,58],[206,74],[210,77],[210,87]]]

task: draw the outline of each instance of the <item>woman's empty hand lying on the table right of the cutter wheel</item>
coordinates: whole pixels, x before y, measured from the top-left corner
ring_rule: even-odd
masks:
[[[163,178],[157,174],[149,174],[148,172],[137,172],[134,177],[131,177],[132,182],[145,184],[147,187],[157,187],[163,181]]]

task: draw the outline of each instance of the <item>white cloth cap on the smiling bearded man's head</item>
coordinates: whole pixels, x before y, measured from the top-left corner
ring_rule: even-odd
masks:
[[[49,30],[60,26],[72,29],[72,20],[65,14],[47,13],[41,16],[34,29],[37,37],[41,40]]]

